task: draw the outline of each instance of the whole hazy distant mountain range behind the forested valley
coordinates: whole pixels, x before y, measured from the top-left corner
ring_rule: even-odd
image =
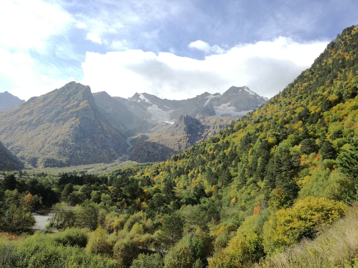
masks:
[[[123,155],[138,162],[165,160],[266,100],[234,86],[187,100],[147,93],[124,99],[71,82],[1,111],[0,140],[33,167],[112,162]]]

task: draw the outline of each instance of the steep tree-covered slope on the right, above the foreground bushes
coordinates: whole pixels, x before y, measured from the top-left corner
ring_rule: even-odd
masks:
[[[179,173],[164,173],[182,176],[187,185],[201,173],[200,180],[210,187],[254,183],[262,188],[265,183],[270,190],[299,182],[302,170],[319,163],[333,168],[358,131],[356,29],[347,28],[311,68],[261,108],[156,169],[183,167]],[[215,173],[218,169],[223,172]]]

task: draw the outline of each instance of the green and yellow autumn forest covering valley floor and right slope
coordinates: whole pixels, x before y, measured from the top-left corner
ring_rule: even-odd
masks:
[[[358,267],[357,54],[351,26],[266,104],[165,162],[5,173],[0,267]],[[30,235],[32,212],[53,218]]]

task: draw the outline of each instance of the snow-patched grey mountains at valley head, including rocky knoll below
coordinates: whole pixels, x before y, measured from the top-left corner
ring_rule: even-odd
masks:
[[[151,148],[151,151],[156,151],[157,155],[153,159],[145,157],[147,162],[153,162],[154,159],[165,160],[173,152],[190,148],[267,101],[246,86],[232,86],[223,94],[205,92],[187,100],[160,99],[147,93],[136,93],[128,99],[113,98],[137,117],[153,125],[144,133],[149,137],[146,141],[136,144],[129,139],[133,146],[130,154],[132,160],[138,160],[139,155],[146,154],[141,149]],[[153,145],[156,149],[153,149]]]

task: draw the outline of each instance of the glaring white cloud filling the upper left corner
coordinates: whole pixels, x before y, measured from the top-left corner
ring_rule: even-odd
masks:
[[[63,85],[61,71],[53,62],[59,49],[55,36],[66,37],[73,23],[58,4],[40,0],[4,0],[0,9],[0,88],[21,99],[41,95]],[[55,43],[53,43],[55,42]],[[49,57],[49,55],[51,55]],[[71,78],[69,78],[71,79]]]

